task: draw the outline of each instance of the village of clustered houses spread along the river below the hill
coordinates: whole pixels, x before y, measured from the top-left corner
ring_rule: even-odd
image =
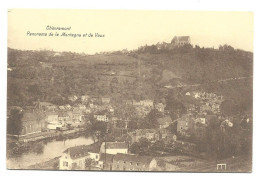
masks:
[[[96,137],[94,144],[79,144],[65,150],[59,158],[60,170],[181,171],[187,166],[195,167],[202,159],[178,159],[192,162],[188,162],[189,165],[166,162],[166,165],[165,158],[160,157],[181,154],[203,158],[192,139],[205,140],[207,127],[213,120],[222,121],[219,128],[233,127],[232,119],[223,119],[220,115],[223,96],[198,91],[184,95],[197,103],[187,104],[186,113],[177,119],[171,118],[165,109],[166,104],[154,103],[151,99],[126,100],[125,105],[133,108],[131,112],[141,120],[145,120],[151,111],[160,114],[156,118],[156,127],[147,129],[138,128],[139,121],[136,127],[131,127],[132,119],[117,116],[117,111],[121,109],[116,109],[109,97],[74,95],[68,98],[71,105],[62,106],[38,101],[32,109],[23,111],[19,141],[37,142],[55,134],[66,136],[79,131],[84,133],[90,129],[89,125],[98,121],[106,127],[103,137],[101,132],[104,129],[97,126],[93,131],[93,137]],[[245,120],[246,123],[250,122],[249,118]]]

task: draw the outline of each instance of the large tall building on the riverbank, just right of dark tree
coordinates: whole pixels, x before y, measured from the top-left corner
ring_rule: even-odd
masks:
[[[44,115],[42,113],[25,112],[23,114],[21,122],[21,135],[39,133],[47,128],[47,123],[45,122]]]

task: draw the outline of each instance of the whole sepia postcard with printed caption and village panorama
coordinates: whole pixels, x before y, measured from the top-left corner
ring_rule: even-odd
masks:
[[[253,24],[9,9],[7,169],[252,172]]]

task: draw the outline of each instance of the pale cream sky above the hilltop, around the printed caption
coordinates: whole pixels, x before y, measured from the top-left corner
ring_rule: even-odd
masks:
[[[47,26],[70,30],[46,30]],[[95,54],[169,43],[174,36],[188,35],[201,47],[229,44],[253,51],[253,29],[252,12],[9,9],[8,47]],[[28,31],[105,36],[29,36]]]

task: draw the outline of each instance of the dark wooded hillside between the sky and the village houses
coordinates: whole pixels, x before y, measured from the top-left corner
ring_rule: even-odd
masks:
[[[97,55],[8,48],[8,68],[8,105],[32,105],[38,99],[65,104],[68,96],[83,94],[109,95],[115,101],[155,99],[165,85],[186,85],[178,90],[214,91],[252,103],[252,53],[230,46]],[[218,82],[239,77],[249,79]]]

